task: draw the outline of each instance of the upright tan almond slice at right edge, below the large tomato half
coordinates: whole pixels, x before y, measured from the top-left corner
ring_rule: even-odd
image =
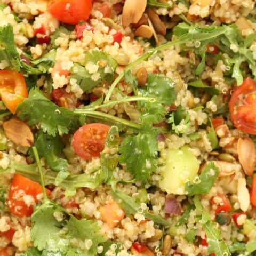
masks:
[[[251,176],[256,164],[256,150],[252,140],[249,137],[239,138],[237,152],[244,173]]]

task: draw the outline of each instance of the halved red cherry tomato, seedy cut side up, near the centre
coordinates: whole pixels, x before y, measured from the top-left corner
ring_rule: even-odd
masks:
[[[110,126],[100,123],[85,124],[79,128],[72,140],[75,153],[89,161],[93,157],[99,157],[100,152],[104,149],[109,129]]]

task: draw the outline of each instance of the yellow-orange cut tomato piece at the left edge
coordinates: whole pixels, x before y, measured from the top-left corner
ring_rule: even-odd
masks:
[[[28,98],[28,91],[25,79],[21,73],[10,70],[0,70],[0,95],[4,105],[12,113],[15,112],[22,98]]]

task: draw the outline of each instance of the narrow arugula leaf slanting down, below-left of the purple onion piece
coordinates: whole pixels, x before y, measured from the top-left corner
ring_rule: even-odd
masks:
[[[140,210],[140,206],[135,202],[133,197],[128,196],[122,191],[116,189],[117,181],[111,181],[111,195],[115,201],[124,209],[126,215],[135,214]],[[159,215],[149,213],[144,210],[142,213],[146,218],[153,220],[156,224],[169,226],[170,223],[165,219],[161,218]]]

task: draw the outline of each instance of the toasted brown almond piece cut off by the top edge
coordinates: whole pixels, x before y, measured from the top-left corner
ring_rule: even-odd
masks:
[[[122,13],[123,27],[129,26],[131,23],[138,23],[146,9],[146,5],[147,0],[126,0]]]

